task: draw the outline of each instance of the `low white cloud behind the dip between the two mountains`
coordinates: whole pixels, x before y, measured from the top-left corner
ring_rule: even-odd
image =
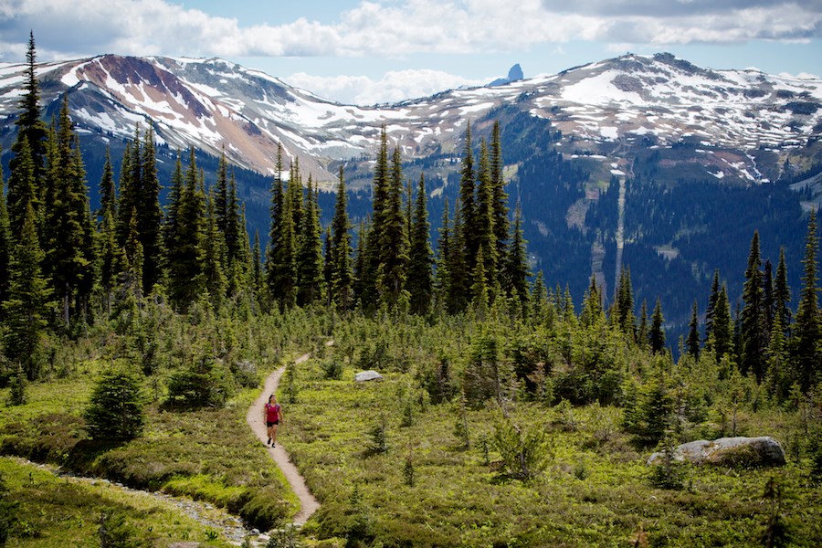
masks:
[[[320,77],[304,72],[292,74],[284,80],[297,88],[311,90],[321,97],[345,104],[374,105],[427,97],[461,86],[479,86],[488,83],[491,78],[479,81],[438,70],[394,70],[386,72],[379,80],[365,76]]]

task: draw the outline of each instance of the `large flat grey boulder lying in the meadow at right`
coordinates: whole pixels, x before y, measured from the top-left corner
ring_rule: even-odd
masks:
[[[750,468],[785,466],[785,449],[773,437],[720,437],[713,441],[690,441],[674,449],[675,460],[693,464],[712,464]],[[654,464],[663,458],[661,452],[648,458]]]

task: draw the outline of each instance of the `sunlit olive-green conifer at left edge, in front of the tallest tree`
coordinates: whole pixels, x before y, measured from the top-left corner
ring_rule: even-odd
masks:
[[[45,257],[37,238],[34,207],[26,205],[26,216],[9,262],[8,297],[5,315],[5,355],[19,361],[29,381],[39,376],[39,351],[47,331],[51,289],[40,265]]]

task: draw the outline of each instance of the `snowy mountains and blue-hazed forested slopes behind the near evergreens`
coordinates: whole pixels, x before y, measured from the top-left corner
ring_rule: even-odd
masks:
[[[4,164],[24,68],[0,64]],[[264,240],[278,143],[287,164],[299,160],[327,189],[344,163],[356,219],[369,211],[385,125],[406,176],[426,175],[436,235],[441,198],[455,196],[466,122],[479,145],[500,120],[511,208],[522,204],[534,268],[579,300],[592,275],[607,295],[629,266],[638,304],[659,295],[672,328],[706,298],[714,269],[739,295],[754,229],[764,258],[775,261],[785,246],[798,265],[802,208],[822,194],[822,81],[712,70],[669,54],[374,107],[323,100],[221,59],[105,55],[45,63],[37,75],[47,118],[68,93],[92,203],[105,147],[119,163],[137,124],[151,124],[163,182],[179,149],[195,147],[206,178],[226,151],[251,233]],[[327,220],[332,196],[322,204]],[[798,272],[790,274],[796,290]]]

